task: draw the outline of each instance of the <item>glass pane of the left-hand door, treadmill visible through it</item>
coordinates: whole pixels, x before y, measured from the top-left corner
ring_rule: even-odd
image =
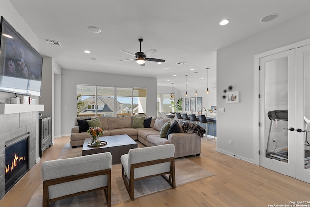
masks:
[[[266,157],[288,162],[288,58],[265,63]]]

